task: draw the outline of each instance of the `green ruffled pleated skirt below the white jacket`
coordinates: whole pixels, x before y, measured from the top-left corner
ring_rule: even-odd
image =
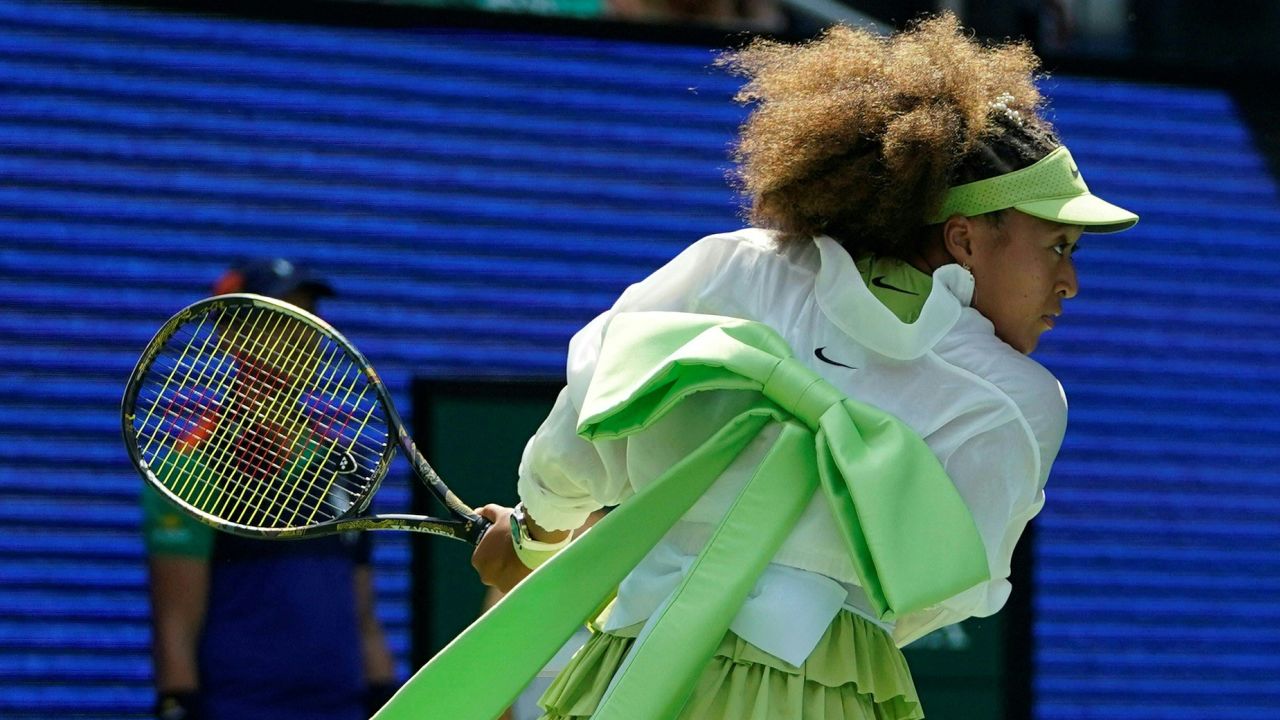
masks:
[[[634,638],[594,633],[543,694],[543,720],[590,717]],[[803,665],[733,633],[721,641],[680,720],[918,720],[906,659],[883,630],[841,611]]]

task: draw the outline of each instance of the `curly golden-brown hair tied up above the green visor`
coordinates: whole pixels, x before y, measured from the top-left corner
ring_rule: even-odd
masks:
[[[947,187],[1059,145],[1030,47],[979,44],[950,13],[890,37],[836,26],[799,45],[759,38],[717,64],[748,78],[735,179],[749,220],[780,243],[826,233],[855,258],[905,258]],[[992,108],[1002,95],[1018,118]]]

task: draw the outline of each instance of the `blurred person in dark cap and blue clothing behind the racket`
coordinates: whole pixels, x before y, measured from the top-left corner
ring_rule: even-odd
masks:
[[[229,269],[216,295],[316,311],[332,286],[284,259]],[[273,542],[218,533],[142,493],[163,720],[361,720],[396,691],[367,533]]]

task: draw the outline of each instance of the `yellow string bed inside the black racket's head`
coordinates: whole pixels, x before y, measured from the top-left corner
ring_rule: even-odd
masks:
[[[362,370],[284,313],[209,315],[173,333],[148,372],[143,457],[198,447],[202,462],[170,466],[161,480],[225,521],[293,527],[301,515],[310,524],[347,512],[388,442]]]

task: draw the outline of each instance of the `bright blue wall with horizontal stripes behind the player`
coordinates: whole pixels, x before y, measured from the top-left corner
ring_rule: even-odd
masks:
[[[334,279],[326,315],[402,405],[415,375],[556,375],[627,283],[739,223],[712,58],[0,0],[0,716],[150,703],[116,409],[164,318],[283,254]],[[1036,716],[1280,716],[1276,184],[1221,92],[1046,90],[1143,222],[1085,238],[1041,354],[1071,427],[1037,521]],[[378,502],[407,495],[401,473]],[[378,541],[407,673],[407,543]]]

